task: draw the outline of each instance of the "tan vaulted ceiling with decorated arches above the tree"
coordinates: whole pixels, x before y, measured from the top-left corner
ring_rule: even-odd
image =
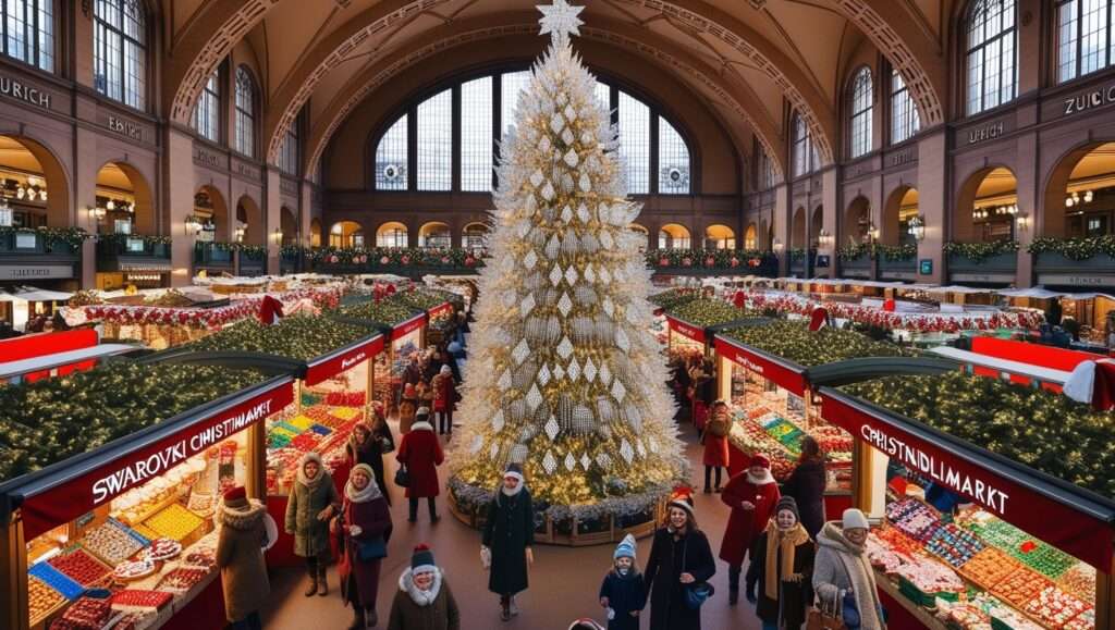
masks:
[[[204,78],[234,49],[255,67],[273,161],[308,105],[310,159],[376,86],[459,46],[536,32],[539,0],[164,0],[171,117],[186,123]],[[785,164],[791,110],[822,161],[840,137],[850,66],[882,54],[902,72],[923,126],[944,118],[951,0],[582,0],[582,36],[672,72],[740,153],[752,135]],[[541,39],[540,39],[541,41]],[[314,163],[308,164],[313,167]]]

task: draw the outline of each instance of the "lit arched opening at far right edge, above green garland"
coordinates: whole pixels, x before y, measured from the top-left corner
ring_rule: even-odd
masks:
[[[1104,188],[1112,185],[1115,185],[1115,142],[1089,142],[1067,152],[1046,177],[1041,221],[1035,222],[1037,235],[1087,235],[1089,230],[1083,219],[1074,219],[1083,217],[1096,197],[1109,195],[1111,192]],[[1076,193],[1075,200],[1072,193]],[[1069,200],[1072,206],[1067,205]],[[1115,229],[1106,225],[1105,231],[1111,234]]]

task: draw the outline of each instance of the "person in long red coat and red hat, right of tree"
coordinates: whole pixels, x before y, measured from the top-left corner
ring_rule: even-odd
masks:
[[[770,461],[763,455],[752,457],[750,466],[724,486],[720,500],[731,507],[720,543],[720,560],[728,563],[728,604],[739,601],[744,559],[766,529],[780,496],[778,484],[770,476]]]

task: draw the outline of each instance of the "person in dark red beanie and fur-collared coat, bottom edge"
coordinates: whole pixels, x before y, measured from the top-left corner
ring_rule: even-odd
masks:
[[[399,575],[399,590],[391,602],[387,630],[460,630],[460,611],[434,552],[420,544],[410,566]]]

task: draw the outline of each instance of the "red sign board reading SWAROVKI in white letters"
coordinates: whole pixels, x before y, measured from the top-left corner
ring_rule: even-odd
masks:
[[[114,496],[162,476],[190,457],[279,413],[293,400],[292,384],[282,382],[153,444],[96,465],[79,477],[26,497],[20,506],[25,537],[30,541],[104,505]]]

